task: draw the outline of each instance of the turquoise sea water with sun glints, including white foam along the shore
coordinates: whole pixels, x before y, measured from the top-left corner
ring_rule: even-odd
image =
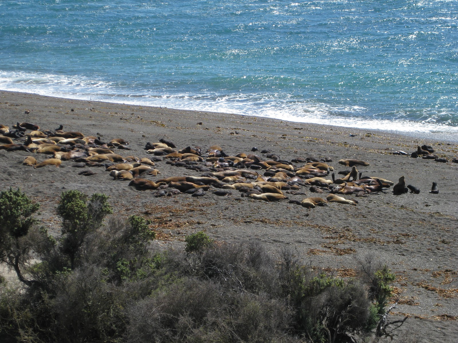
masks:
[[[458,133],[456,0],[0,2],[0,89]]]

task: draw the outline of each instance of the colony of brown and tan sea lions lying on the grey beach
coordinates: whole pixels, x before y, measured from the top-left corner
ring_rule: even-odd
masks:
[[[342,159],[338,161],[351,170],[339,171],[344,177],[336,178],[329,158],[316,159],[313,157],[295,158],[291,161],[282,160],[278,155],[268,150],[261,150],[261,157],[254,153],[240,152],[228,155],[218,145],[210,146],[205,152],[199,146],[187,146],[177,149],[173,142],[159,139],[158,143],[148,142],[146,153],[152,157],[139,158],[134,155],[122,156],[114,150],[130,150],[129,143],[124,139],[111,139],[104,142],[100,135],[85,136],[81,132],[64,131],[60,125],[55,130],[41,130],[38,125],[31,123],[16,123],[9,129],[0,125],[0,150],[24,150],[32,153],[52,155],[52,158],[38,162],[33,155],[27,156],[23,165],[40,168],[43,166],[59,167],[62,161],[72,161],[73,167],[103,167],[107,175],[114,180],[127,180],[129,186],[138,190],[154,191],[155,197],[172,196],[179,193],[192,194],[200,197],[206,191],[213,189],[213,194],[228,196],[232,191],[241,193],[241,197],[264,201],[279,201],[288,199],[286,194],[304,196],[305,188],[312,193],[329,193],[326,198],[308,197],[302,201],[289,200],[290,203],[300,204],[305,208],[315,208],[328,203],[356,205],[357,200],[349,200],[340,195],[365,197],[371,193],[387,192],[394,182],[377,176],[362,177],[362,172],[356,166],[369,166],[367,161]],[[30,131],[30,132],[27,132]],[[426,149],[426,150],[425,150]],[[257,148],[251,149],[252,152]],[[434,150],[430,146],[418,147],[417,155],[431,155]],[[399,155],[404,155],[405,153]],[[406,154],[407,155],[407,154]],[[432,158],[431,158],[432,159]],[[437,157],[436,157],[437,159]],[[200,177],[176,176],[152,181],[146,177],[157,177],[160,171],[155,169],[155,162],[185,167],[201,172]],[[294,164],[293,164],[294,163]],[[78,175],[90,176],[96,172],[83,170]],[[420,193],[420,189],[405,186],[404,177],[393,187],[393,194],[407,192]],[[430,193],[438,193],[436,182]],[[338,195],[339,194],[339,195]]]

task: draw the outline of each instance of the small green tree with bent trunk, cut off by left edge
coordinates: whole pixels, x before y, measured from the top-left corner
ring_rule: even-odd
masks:
[[[21,268],[30,258],[30,245],[24,239],[35,223],[31,217],[39,204],[34,204],[19,188],[0,192],[0,261],[14,269],[19,280],[31,286]]]

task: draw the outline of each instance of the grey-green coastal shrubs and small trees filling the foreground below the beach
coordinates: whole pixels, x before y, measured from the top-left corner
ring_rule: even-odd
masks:
[[[386,321],[394,275],[373,259],[339,278],[278,256],[257,241],[215,241],[154,251],[142,217],[113,214],[108,197],[61,193],[60,235],[37,225],[39,205],[0,193],[3,342],[367,342]],[[402,323],[400,323],[402,324]],[[375,337],[375,338],[374,338]]]

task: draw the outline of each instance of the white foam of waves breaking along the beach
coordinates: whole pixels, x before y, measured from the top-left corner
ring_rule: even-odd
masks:
[[[368,117],[367,109],[362,106],[331,106],[321,102],[306,101],[289,94],[217,94],[215,92],[207,94],[151,94],[147,90],[133,93],[130,89],[104,80],[90,80],[77,75],[8,73],[3,71],[0,71],[0,89],[71,99],[234,113],[278,118],[299,123],[330,124],[360,129],[458,134],[458,127],[435,123],[434,118],[427,118],[424,121],[372,118]],[[405,110],[405,113],[415,113],[415,111],[418,110]],[[402,118],[402,113],[391,113],[389,116]]]

